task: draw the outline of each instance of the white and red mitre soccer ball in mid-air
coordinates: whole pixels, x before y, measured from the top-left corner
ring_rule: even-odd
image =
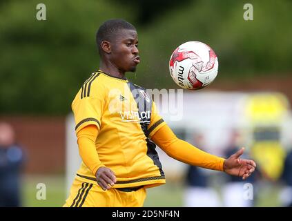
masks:
[[[169,71],[178,86],[191,90],[202,89],[217,76],[217,55],[200,41],[188,41],[171,55]]]

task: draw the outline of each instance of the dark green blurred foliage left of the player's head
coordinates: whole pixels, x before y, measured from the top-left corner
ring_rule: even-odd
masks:
[[[47,0],[47,20],[38,21],[38,3],[0,5],[1,113],[68,113],[79,87],[98,68],[97,28],[113,17],[131,20],[130,12],[106,0]]]

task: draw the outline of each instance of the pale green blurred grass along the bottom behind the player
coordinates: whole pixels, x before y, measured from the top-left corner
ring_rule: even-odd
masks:
[[[46,200],[37,200],[37,184],[46,184]],[[66,180],[64,176],[32,176],[26,175],[22,181],[23,206],[28,207],[59,207],[66,200]],[[264,184],[260,187],[255,206],[280,206],[278,193],[280,186]],[[162,186],[147,189],[145,207],[149,206],[183,206],[183,184],[168,181]]]

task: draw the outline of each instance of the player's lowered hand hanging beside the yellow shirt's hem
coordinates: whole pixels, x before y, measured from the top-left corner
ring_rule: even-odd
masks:
[[[115,173],[111,169],[105,166],[100,167],[97,170],[97,173],[95,174],[95,176],[97,177],[97,184],[99,184],[99,186],[104,191],[110,189],[111,186],[115,185],[115,183],[117,182]]]

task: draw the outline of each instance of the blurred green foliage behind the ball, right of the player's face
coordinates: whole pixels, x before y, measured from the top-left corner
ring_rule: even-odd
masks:
[[[143,76],[137,83],[148,88],[175,88],[168,76],[170,55],[180,44],[193,40],[215,50],[219,58],[216,81],[292,74],[292,2],[249,2],[253,4],[253,21],[243,19],[245,1],[202,0],[184,10],[170,10],[146,30],[141,28],[138,76]]]

